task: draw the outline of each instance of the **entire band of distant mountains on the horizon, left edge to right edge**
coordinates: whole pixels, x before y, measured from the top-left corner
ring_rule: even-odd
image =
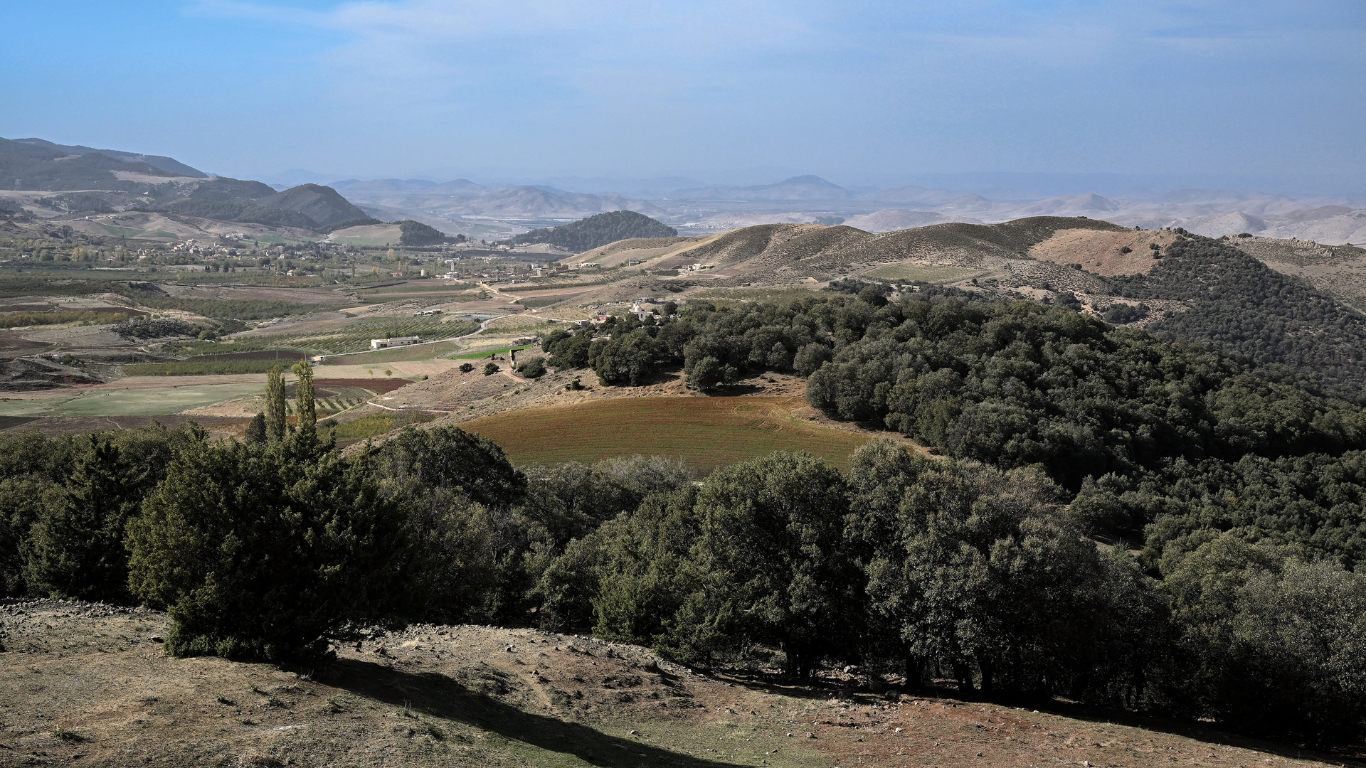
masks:
[[[291,171],[283,176],[307,175]],[[971,191],[919,186],[847,189],[814,175],[772,184],[688,187],[653,197],[492,186],[469,179],[347,179],[277,190],[261,182],[210,176],[172,157],[38,138],[0,139],[0,190],[33,193],[4,195],[7,208],[37,205],[59,213],[169,210],[314,231],[365,217],[411,219],[447,234],[493,239],[598,213],[634,210],[684,235],[779,223],[843,221],[867,232],[888,232],[951,221],[1086,216],[1127,227],[1183,227],[1212,236],[1247,232],[1332,245],[1366,242],[1366,202],[1344,198],[1296,200],[1198,189],[1158,194],[1135,189],[1131,197],[990,200]]]

